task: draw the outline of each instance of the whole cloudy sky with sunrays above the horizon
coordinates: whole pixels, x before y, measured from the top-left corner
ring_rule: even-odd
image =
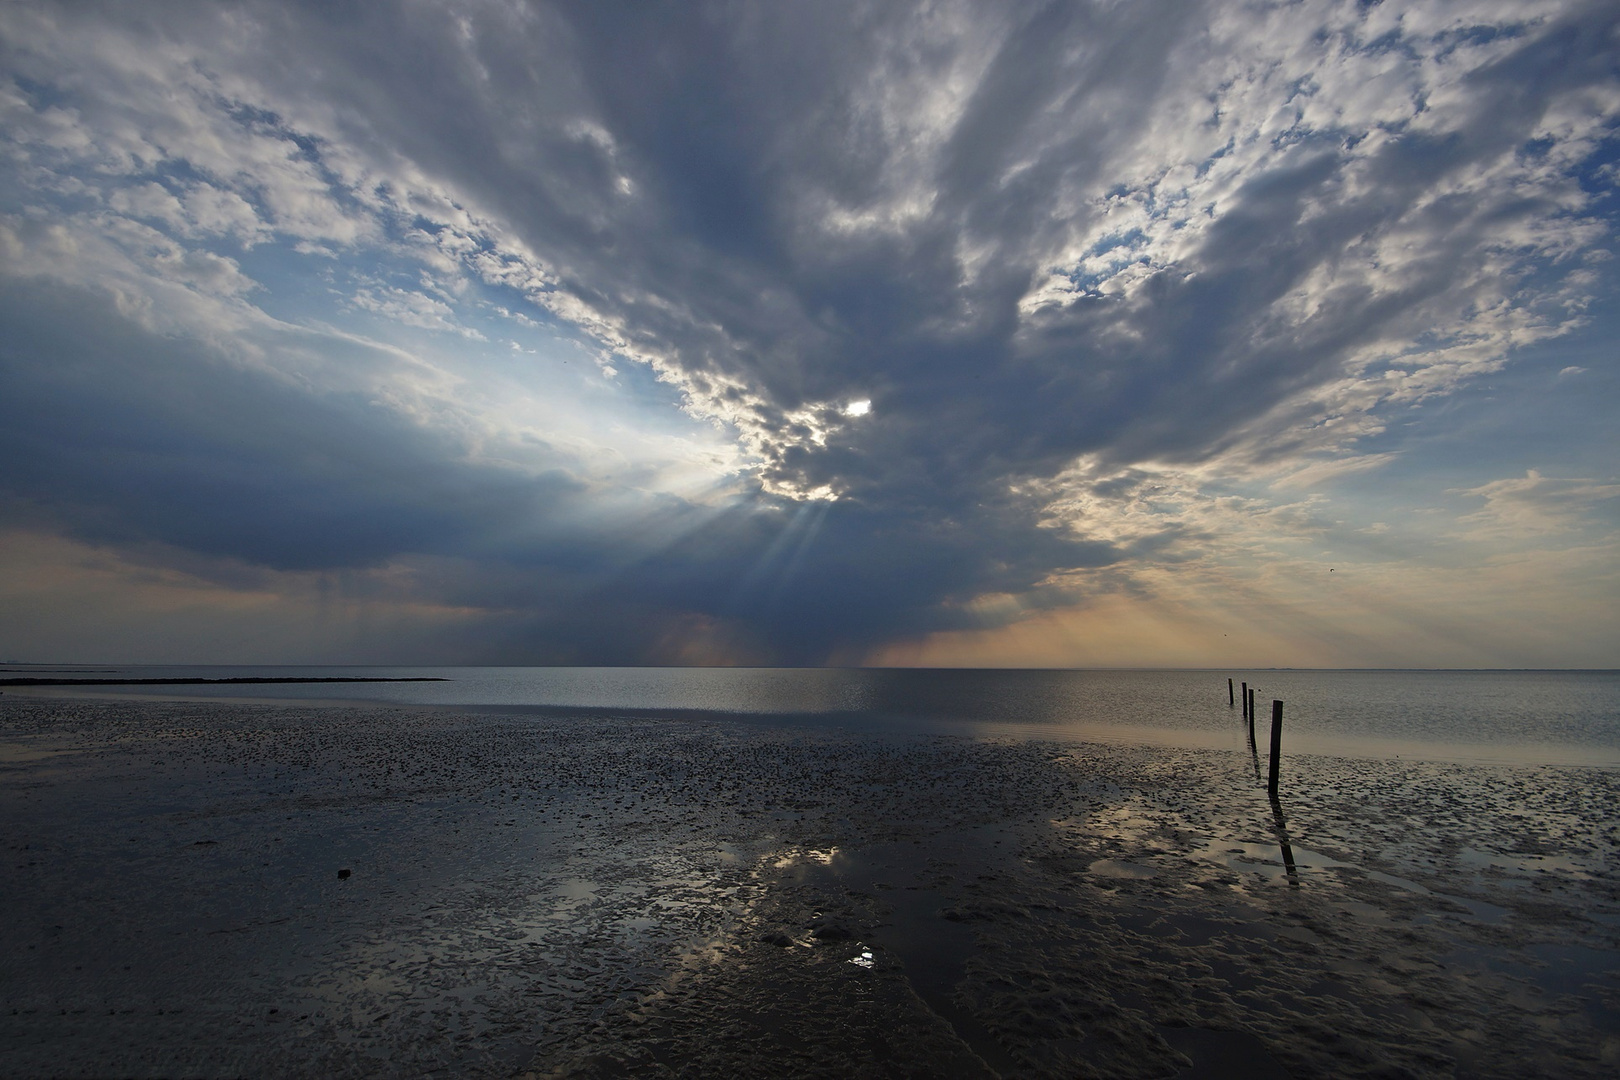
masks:
[[[1620,667],[1620,6],[0,5],[0,659]]]

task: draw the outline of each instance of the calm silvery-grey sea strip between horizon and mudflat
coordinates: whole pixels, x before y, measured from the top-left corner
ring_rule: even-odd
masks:
[[[1281,699],[1288,751],[1620,767],[1620,672],[1612,670],[11,665],[0,674],[44,675],[47,670],[83,678],[431,675],[449,680],[117,690],[162,698],[680,711],[872,730],[1246,746],[1247,729],[1239,711],[1226,704],[1226,678],[1233,677],[1257,688],[1262,746],[1270,703]],[[70,693],[105,695],[107,690]]]

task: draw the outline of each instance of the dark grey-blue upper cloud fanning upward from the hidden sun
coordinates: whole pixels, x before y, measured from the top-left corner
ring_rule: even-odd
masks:
[[[314,18],[337,18],[326,10]],[[1617,55],[1602,5],[1510,28],[1513,49],[1468,76],[1445,131],[1406,121],[1371,154],[1346,146],[1366,130],[1290,131],[1149,288],[1021,319],[1095,214],[1076,193],[1178,89],[1165,84],[1199,5],[962,8],[932,32],[904,5],[514,11],[280,32],[316,39],[324,91],[363,102],[352,123],[497,207],[567,291],[700,397],[711,377],[747,387],[745,423],[773,434],[795,410],[872,397],[878,419],[826,447],[768,437],[771,476],[941,513],[1081,453],[1199,460],[1405,319],[1432,325],[1437,298],[1466,304],[1477,256],[1515,219],[1557,214],[1555,196],[1487,214],[1471,194],[1432,196],[1526,144],[1562,96],[1610,84]],[[873,99],[972,49],[987,52],[977,86],[907,176]],[[870,207],[896,183],[927,212],[825,227],[828,206]],[[1408,282],[1349,282],[1309,322],[1278,324],[1281,298],[1396,222],[1427,248]]]

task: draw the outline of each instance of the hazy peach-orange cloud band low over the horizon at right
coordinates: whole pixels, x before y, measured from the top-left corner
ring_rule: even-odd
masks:
[[[1586,667],[1614,664],[1615,546],[1371,570],[1285,560],[1187,575],[972,630],[897,638],[876,665]],[[1570,633],[1580,627],[1580,633]]]

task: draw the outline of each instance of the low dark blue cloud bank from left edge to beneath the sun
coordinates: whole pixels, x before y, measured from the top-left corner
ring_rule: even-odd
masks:
[[[1032,551],[1014,528],[1000,536],[1024,562],[987,570],[996,534],[831,504],[705,515],[642,495],[630,529],[604,529],[591,500],[612,492],[562,468],[458,461],[460,447],[374,402],[222,364],[94,293],[13,285],[0,321],[13,517],[271,570],[465,560],[416,599],[505,612],[483,631],[486,656],[633,662],[703,615],[753,627],[735,641],[757,656],[818,662],[836,643],[949,625],[941,597],[1021,586],[1055,555],[1110,557],[1056,539]]]

